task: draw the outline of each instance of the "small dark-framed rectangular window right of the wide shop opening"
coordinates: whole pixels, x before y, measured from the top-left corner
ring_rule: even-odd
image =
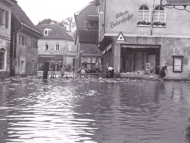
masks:
[[[182,56],[182,55],[173,55],[172,56],[173,57],[173,72],[174,73],[182,73],[183,72],[183,58],[184,58],[184,56]],[[178,59],[178,60],[180,60],[180,64],[181,65],[176,65],[176,59]],[[176,66],[180,66],[180,69],[179,70],[176,70]]]

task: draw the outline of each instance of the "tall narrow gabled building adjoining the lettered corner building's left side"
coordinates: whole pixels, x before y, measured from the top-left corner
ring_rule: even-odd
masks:
[[[75,45],[77,49],[76,68],[85,63],[90,72],[95,71],[95,63],[102,62],[102,54],[97,46],[98,13],[94,2],[74,14],[76,22]]]

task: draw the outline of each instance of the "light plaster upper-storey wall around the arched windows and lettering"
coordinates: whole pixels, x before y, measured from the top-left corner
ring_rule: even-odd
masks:
[[[151,26],[139,27],[138,9],[141,5],[147,5],[150,12],[153,10],[153,0],[107,0],[106,1],[106,19],[105,19],[105,33],[118,34],[122,31],[125,35],[151,35]],[[155,0],[155,6],[160,4],[160,0]],[[117,5],[117,6],[115,6]],[[182,7],[183,8],[183,7]],[[153,35],[159,36],[189,36],[190,35],[190,16],[184,10],[176,10],[164,8],[166,11],[166,27],[153,28]],[[126,14],[116,18],[116,14],[125,12]],[[125,22],[113,26],[116,21],[124,18]],[[151,17],[150,17],[151,18]]]

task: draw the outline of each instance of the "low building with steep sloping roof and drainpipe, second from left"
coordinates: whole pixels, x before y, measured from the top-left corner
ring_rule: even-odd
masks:
[[[11,73],[36,75],[38,63],[38,39],[42,36],[22,8],[12,7]]]

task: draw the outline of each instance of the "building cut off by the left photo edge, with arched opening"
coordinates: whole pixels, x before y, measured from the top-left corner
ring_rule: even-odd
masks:
[[[0,78],[10,73],[11,7],[16,0],[0,1]]]

